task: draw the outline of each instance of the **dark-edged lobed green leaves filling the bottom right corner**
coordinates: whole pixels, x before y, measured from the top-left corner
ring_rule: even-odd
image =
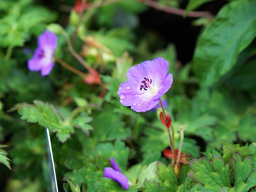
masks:
[[[203,184],[207,191],[219,189],[221,191],[247,192],[256,185],[256,172],[253,170],[250,156],[242,158],[240,154],[236,153],[234,158],[230,159],[230,165],[236,179],[233,187],[230,184],[229,163],[225,164],[224,159],[217,155],[214,156],[212,163],[206,157],[202,157],[201,160],[191,160],[190,168],[192,172],[189,172],[188,176]]]

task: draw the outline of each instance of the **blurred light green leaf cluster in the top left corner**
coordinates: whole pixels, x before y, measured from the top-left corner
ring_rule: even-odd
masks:
[[[0,19],[0,46],[23,46],[31,30],[38,34],[37,28],[43,29],[44,23],[56,19],[56,15],[49,10],[31,3],[22,0],[10,2],[9,14]]]

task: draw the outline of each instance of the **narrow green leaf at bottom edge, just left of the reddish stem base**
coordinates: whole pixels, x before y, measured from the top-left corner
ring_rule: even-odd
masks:
[[[160,185],[164,187],[164,191],[176,192],[178,189],[178,180],[173,167],[169,164],[158,163],[157,174],[160,177]]]

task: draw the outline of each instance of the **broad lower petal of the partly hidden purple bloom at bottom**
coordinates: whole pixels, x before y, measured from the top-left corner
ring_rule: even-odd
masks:
[[[121,184],[121,186],[128,190],[129,189],[129,184],[128,184],[128,179],[127,177],[118,172],[118,171],[115,171],[114,169],[110,168],[110,167],[106,167],[104,168],[104,173],[103,173],[104,177],[106,178],[110,178],[112,180],[115,180],[117,181],[118,183]]]

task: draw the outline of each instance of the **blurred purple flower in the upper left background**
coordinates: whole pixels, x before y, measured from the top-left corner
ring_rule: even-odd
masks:
[[[42,76],[48,75],[53,66],[53,54],[57,46],[57,36],[45,30],[37,39],[38,47],[34,51],[33,58],[28,60],[30,71],[41,71]]]

